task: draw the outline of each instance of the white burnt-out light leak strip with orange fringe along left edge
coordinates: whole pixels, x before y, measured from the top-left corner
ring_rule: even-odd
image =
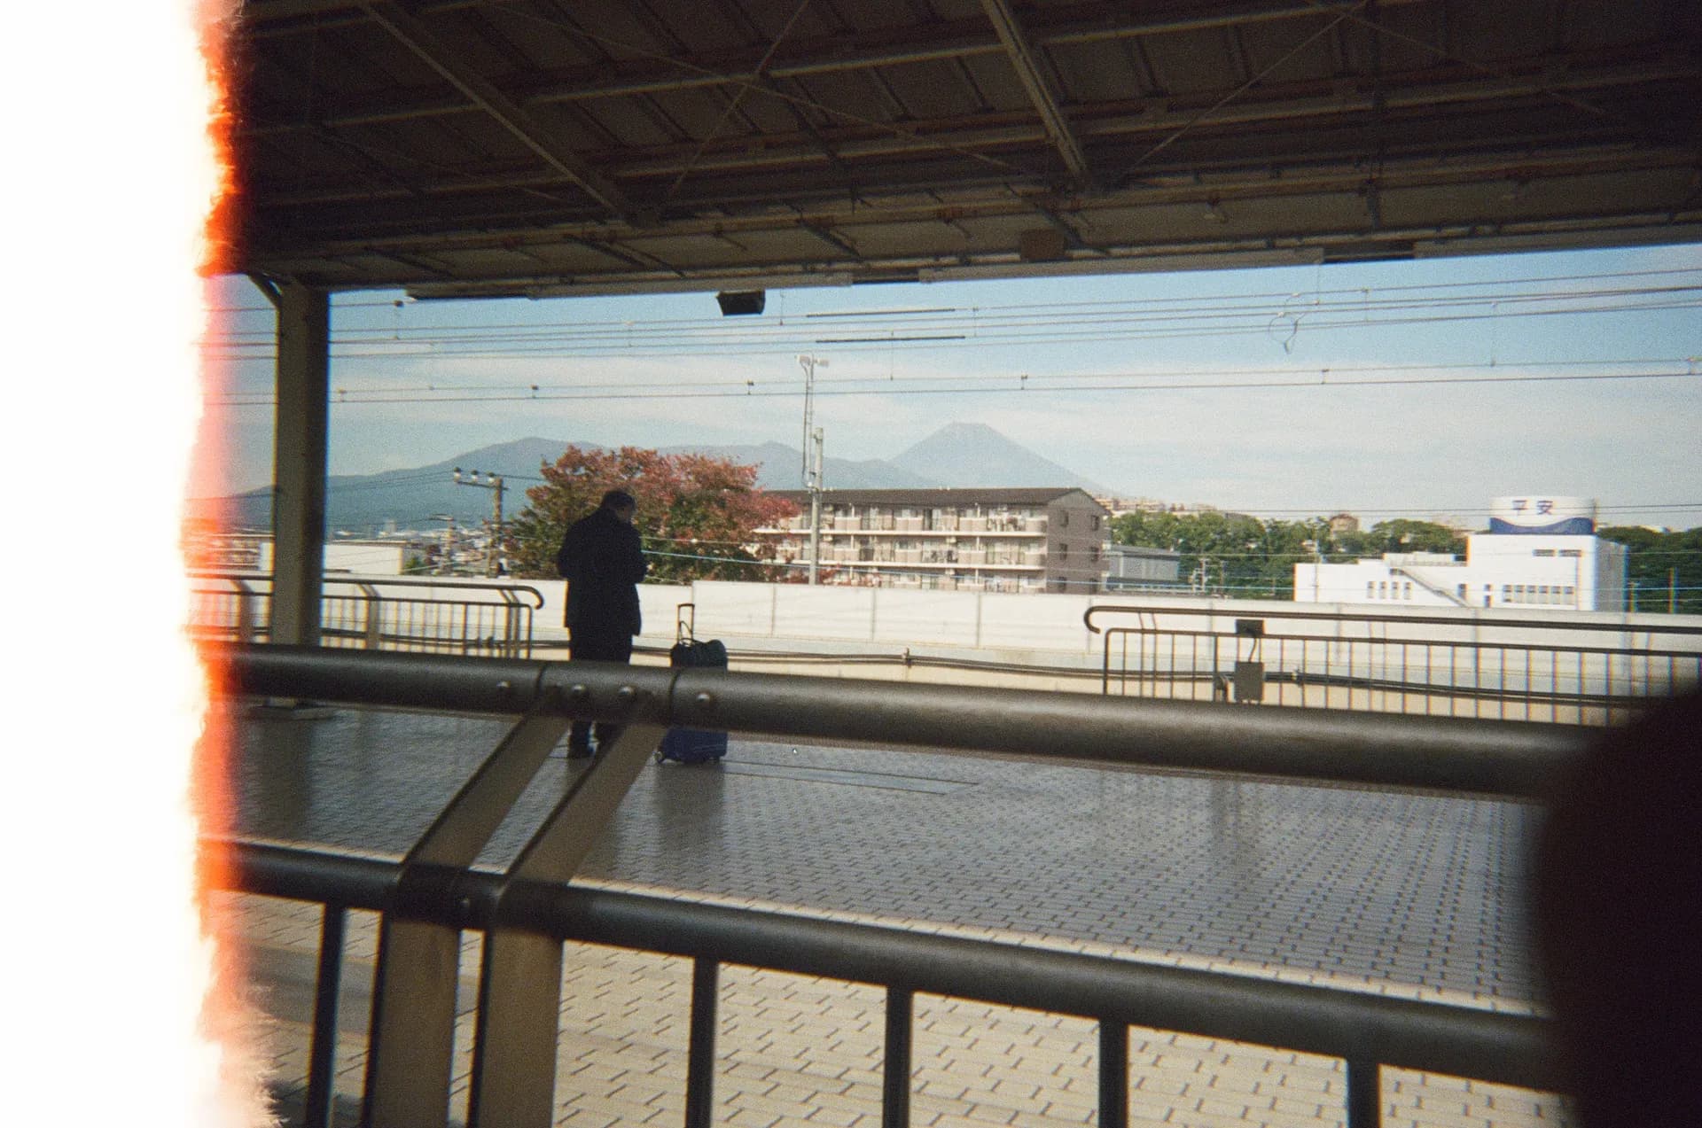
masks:
[[[180,548],[233,3],[9,10],[9,1123],[272,1123],[196,880],[228,808]]]

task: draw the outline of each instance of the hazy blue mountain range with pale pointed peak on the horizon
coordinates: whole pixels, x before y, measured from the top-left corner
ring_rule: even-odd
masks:
[[[538,468],[553,463],[568,446],[596,447],[594,442],[560,439],[516,439],[466,451],[441,463],[410,470],[386,470],[376,475],[334,475],[325,487],[327,527],[351,534],[368,534],[393,524],[422,529],[436,524],[436,514],[451,514],[456,522],[478,522],[490,516],[490,490],[468,488],[453,480],[454,468],[502,475],[504,512],[526,507],[524,490],[538,481]],[[757,485],[764,490],[797,490],[802,481],[802,454],[783,442],[752,446],[674,446],[662,454],[711,454],[757,466]],[[829,490],[929,488],[929,487],[1081,487],[1089,493],[1110,493],[1105,487],[1042,458],[985,424],[946,424],[916,446],[890,459],[824,459],[822,480]],[[271,490],[252,490],[221,498],[196,516],[221,524],[266,527],[271,524]]]

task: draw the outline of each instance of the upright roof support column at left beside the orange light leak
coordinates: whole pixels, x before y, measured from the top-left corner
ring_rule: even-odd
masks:
[[[317,647],[325,572],[330,294],[277,288],[272,641]]]

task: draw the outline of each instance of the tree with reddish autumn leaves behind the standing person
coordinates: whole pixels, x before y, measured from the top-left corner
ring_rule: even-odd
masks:
[[[526,490],[528,507],[507,529],[505,548],[516,575],[555,577],[562,534],[597,507],[608,490],[638,498],[633,524],[645,543],[650,578],[768,580],[771,550],[757,548],[752,529],[797,514],[785,498],[756,487],[756,466],[708,454],[659,454],[567,447],[541,466],[543,485]],[[757,555],[764,553],[764,555]]]

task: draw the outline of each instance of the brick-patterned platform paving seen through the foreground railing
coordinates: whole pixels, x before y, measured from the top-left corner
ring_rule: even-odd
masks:
[[[402,854],[505,723],[340,709],[237,730],[238,832]],[[511,861],[579,769],[558,750],[480,864]],[[579,880],[1523,1011],[1527,822],[1527,808],[1474,800],[734,740],[720,769],[648,766]],[[220,903],[247,937],[272,1082],[300,1099],[318,910]],[[376,934],[356,915],[349,1096]],[[470,936],[466,1007],[477,968]],[[689,963],[570,944],[563,980],[558,1123],[679,1123]],[[747,968],[722,982],[717,1123],[878,1123],[878,988]],[[912,1121],[1091,1121],[1094,1057],[1093,1023],[921,997]],[[1130,1058],[1135,1125],[1341,1123],[1329,1058],[1140,1029]],[[1552,1097],[1396,1070],[1384,1099],[1385,1125],[1566,1123]]]

